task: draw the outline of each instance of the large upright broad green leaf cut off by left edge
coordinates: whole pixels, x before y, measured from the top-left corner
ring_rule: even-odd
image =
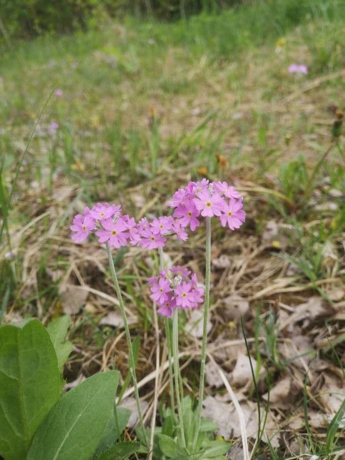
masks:
[[[0,326],[0,455],[26,457],[59,395],[57,357],[44,326],[37,319]]]

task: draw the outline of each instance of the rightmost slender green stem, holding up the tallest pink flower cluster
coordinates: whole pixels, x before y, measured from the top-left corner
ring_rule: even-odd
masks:
[[[193,451],[196,448],[198,441],[200,424],[201,424],[201,408],[203,401],[203,388],[205,380],[205,364],[206,364],[206,347],[207,347],[207,323],[210,309],[210,275],[211,275],[211,217],[206,217],[206,260],[205,260],[205,304],[203,312],[203,332],[202,332],[202,349],[200,363],[200,383],[199,383],[199,402],[196,412],[196,427],[193,442]]]

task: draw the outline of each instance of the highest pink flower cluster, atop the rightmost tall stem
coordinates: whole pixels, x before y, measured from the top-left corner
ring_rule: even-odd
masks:
[[[175,208],[173,217],[181,228],[189,225],[192,232],[200,225],[199,218],[219,217],[223,227],[239,228],[245,221],[242,197],[226,182],[190,182],[184,189],[178,189],[169,206]]]

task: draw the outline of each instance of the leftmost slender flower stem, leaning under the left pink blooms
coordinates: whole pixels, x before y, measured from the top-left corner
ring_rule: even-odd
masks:
[[[146,446],[148,446],[147,438],[146,438],[146,431],[145,431],[145,426],[144,426],[144,421],[143,421],[143,415],[142,411],[140,408],[140,401],[139,401],[139,391],[138,391],[138,385],[136,381],[136,375],[135,375],[135,362],[134,362],[134,354],[133,354],[133,348],[132,348],[132,342],[130,339],[130,333],[129,333],[129,327],[128,327],[128,322],[127,322],[127,317],[126,317],[126,312],[125,312],[125,306],[122,300],[122,295],[121,295],[121,290],[118,282],[118,277],[116,275],[115,267],[114,267],[114,262],[112,260],[112,255],[111,255],[111,249],[109,246],[109,243],[106,242],[106,248],[107,248],[107,255],[109,259],[109,265],[110,265],[110,272],[111,272],[111,278],[112,282],[114,283],[114,287],[118,296],[119,300],[119,306],[120,306],[120,311],[123,319],[123,323],[125,326],[125,333],[126,333],[126,339],[127,339],[127,346],[128,346],[128,354],[129,354],[129,372],[132,376],[133,380],[133,386],[134,386],[134,395],[135,395],[135,401],[136,401],[136,407],[139,415],[139,420],[143,429],[143,436],[144,436],[144,441]]]

